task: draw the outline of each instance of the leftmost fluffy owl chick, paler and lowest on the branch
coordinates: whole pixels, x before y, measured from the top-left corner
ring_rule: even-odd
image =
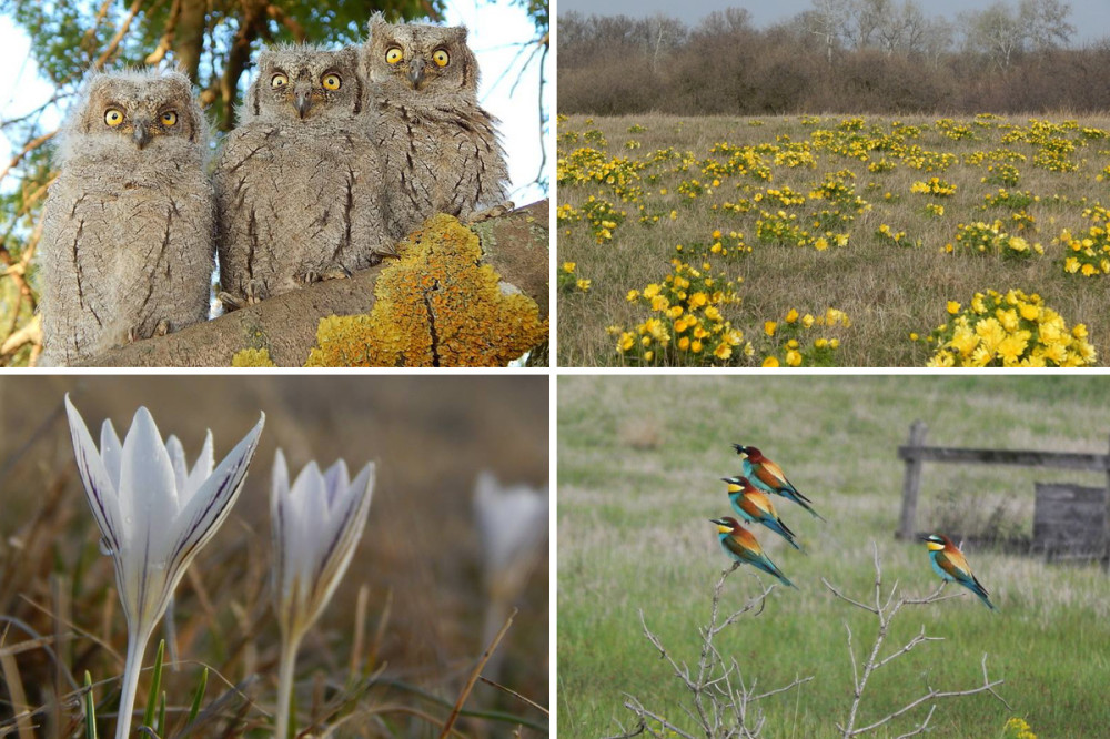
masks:
[[[208,125],[189,78],[92,72],[44,205],[42,366],[176,331],[209,313]]]

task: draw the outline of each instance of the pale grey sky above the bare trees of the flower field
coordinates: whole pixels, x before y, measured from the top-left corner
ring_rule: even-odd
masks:
[[[927,16],[955,18],[965,10],[981,10],[998,0],[917,0]],[[1009,0],[1017,6],[1017,0]],[[1076,40],[1093,41],[1110,36],[1110,0],[1070,0],[1071,24]],[[694,26],[714,10],[745,8],[751,13],[756,27],[763,28],[786,20],[814,7],[811,0],[685,0],[676,6],[674,0],[558,0],[558,12],[576,10],[586,16],[654,16],[662,12]],[[680,8],[680,10],[679,10]]]

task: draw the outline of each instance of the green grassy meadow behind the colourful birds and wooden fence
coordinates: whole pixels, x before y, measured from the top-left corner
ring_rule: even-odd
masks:
[[[759,705],[766,737],[840,736],[852,700],[845,625],[862,665],[875,618],[836,599],[869,601],[872,543],[884,593],[922,597],[939,578],[918,541],[894,538],[905,469],[896,456],[909,424],[929,426],[938,445],[1104,453],[1110,379],[1104,377],[562,377],[558,383],[559,733],[614,737],[634,729],[628,696],[689,731],[689,695],[647,626],[676,660],[696,665],[697,629],[708,620],[714,584],[726,567],[707,519],[729,510],[718,478],[739,473],[730,443],[759,446],[778,462],[827,519],[775,498],[808,550],[799,554],[763,527],[769,557],[798,586],[776,588],[763,611],[719,634],[744,679],[770,690],[796,677],[800,688]],[[968,465],[926,465],[917,529],[1031,534],[1033,482],[1104,485],[1102,475]],[[950,528],[948,530],[951,530]],[[1012,738],[1011,719],[1038,737],[1104,736],[1110,726],[1110,576],[1096,564],[1048,564],[1042,557],[967,548],[998,606],[970,594],[907,606],[881,655],[924,627],[942,641],[919,645],[877,670],[865,692],[864,721],[877,720],[927,692],[991,679],[1009,708],[979,695],[936,701],[934,737]],[[739,608],[760,591],[753,568],[725,586],[720,608]],[[949,586],[946,595],[959,588]],[[912,730],[929,703],[867,736]],[[658,726],[653,727],[658,730]],[[669,735],[668,735],[669,736]]]

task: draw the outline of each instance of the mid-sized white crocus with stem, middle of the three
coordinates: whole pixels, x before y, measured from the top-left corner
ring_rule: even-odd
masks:
[[[374,463],[351,480],[342,459],[327,472],[310,462],[292,487],[285,455],[274,455],[270,495],[274,607],[282,634],[279,739],[289,736],[293,670],[301,639],[323,613],[362,537],[374,492]]]

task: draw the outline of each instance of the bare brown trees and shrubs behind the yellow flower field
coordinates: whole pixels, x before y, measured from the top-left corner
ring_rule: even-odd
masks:
[[[1061,0],[955,19],[917,0],[813,0],[756,28],[747,10],[696,26],[657,14],[559,13],[562,113],[1092,113],[1110,109],[1110,37],[1074,43]]]

